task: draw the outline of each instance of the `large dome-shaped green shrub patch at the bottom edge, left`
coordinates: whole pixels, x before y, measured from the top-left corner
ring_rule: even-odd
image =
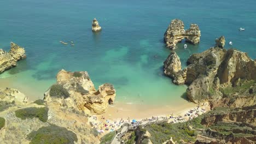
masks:
[[[37,131],[32,131],[27,136],[28,140],[31,140],[30,144],[51,143],[74,143],[77,142],[77,135],[73,131],[69,131],[66,128],[58,127],[56,125],[50,125],[48,127],[39,128]]]

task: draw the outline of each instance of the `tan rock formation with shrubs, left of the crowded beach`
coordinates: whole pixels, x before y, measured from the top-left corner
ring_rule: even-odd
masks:
[[[86,71],[74,73],[60,70],[57,83],[44,94],[47,102],[57,101],[61,106],[86,113],[101,114],[106,112],[115,99],[115,89],[110,83],[104,83],[95,89]]]

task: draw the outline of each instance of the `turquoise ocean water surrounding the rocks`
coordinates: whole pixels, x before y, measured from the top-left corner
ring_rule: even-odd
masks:
[[[186,29],[197,23],[202,34],[199,45],[188,44],[184,50],[184,42],[178,44],[183,65],[192,53],[213,46],[220,35],[256,58],[253,0],[8,0],[0,7],[0,47],[9,50],[13,41],[27,52],[18,67],[0,75],[9,77],[0,83],[9,79],[10,86],[32,89],[36,92],[32,99],[43,98],[57,72],[66,69],[88,71],[96,87],[113,83],[117,101],[175,104],[186,87],[173,85],[162,73],[170,53],[163,36],[175,18],[183,20]],[[97,34],[91,32],[94,17],[102,27]],[[240,27],[246,31],[238,31]],[[75,46],[62,45],[60,40],[73,40]]]

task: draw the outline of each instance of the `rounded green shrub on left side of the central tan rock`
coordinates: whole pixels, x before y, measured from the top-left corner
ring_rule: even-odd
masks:
[[[50,95],[51,97],[65,98],[65,99],[69,97],[69,93],[67,89],[63,88],[63,86],[58,84],[51,86]]]

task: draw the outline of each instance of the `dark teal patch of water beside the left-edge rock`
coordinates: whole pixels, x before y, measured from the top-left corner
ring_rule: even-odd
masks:
[[[15,74],[21,73],[22,71],[26,71],[29,69],[30,69],[30,66],[27,64],[27,60],[22,59],[21,61],[17,62],[16,67],[8,70],[8,74],[15,75]]]

